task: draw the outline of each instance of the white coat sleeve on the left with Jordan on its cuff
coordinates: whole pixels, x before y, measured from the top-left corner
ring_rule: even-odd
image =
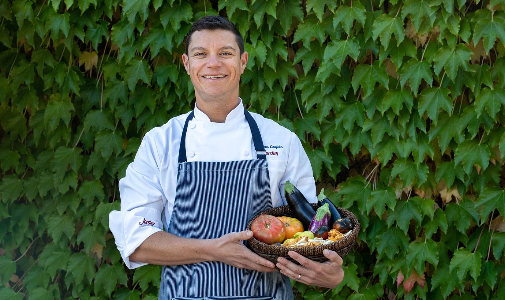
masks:
[[[146,263],[130,262],[129,256],[150,235],[163,230],[166,197],[160,184],[160,157],[148,134],[119,181],[121,211],[109,214],[109,226],[121,257],[129,269]]]

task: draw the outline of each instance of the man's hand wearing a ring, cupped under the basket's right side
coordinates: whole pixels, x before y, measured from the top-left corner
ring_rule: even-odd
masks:
[[[277,268],[282,274],[296,281],[308,285],[334,288],[344,278],[342,259],[334,251],[328,249],[323,251],[323,255],[329,259],[324,263],[312,261],[294,251],[290,251],[288,255],[299,262],[301,266],[280,257],[277,260]]]

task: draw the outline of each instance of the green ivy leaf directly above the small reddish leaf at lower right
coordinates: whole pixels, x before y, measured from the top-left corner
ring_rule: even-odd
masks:
[[[409,267],[414,268],[416,273],[423,274],[425,263],[433,266],[438,265],[438,248],[435,241],[426,239],[424,242],[415,241],[409,245],[407,251]]]

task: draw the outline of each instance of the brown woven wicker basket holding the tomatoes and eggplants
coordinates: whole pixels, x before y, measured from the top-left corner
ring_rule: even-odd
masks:
[[[317,204],[314,203],[312,206],[317,209]],[[275,245],[269,245],[264,242],[261,242],[257,240],[256,238],[252,237],[248,240],[248,245],[251,248],[252,251],[254,251],[256,254],[259,256],[266,258],[267,260],[277,263],[277,258],[278,257],[284,257],[287,260],[299,264],[297,261],[293,260],[291,257],[288,256],[289,251],[295,251],[299,253],[302,256],[305,256],[306,258],[309,258],[313,261],[317,262],[325,262],[328,259],[323,255],[323,250],[324,249],[330,249],[332,251],[335,251],[340,257],[344,257],[347,254],[349,254],[350,249],[352,246],[354,246],[354,243],[356,241],[356,238],[358,237],[358,233],[360,232],[360,222],[358,222],[358,219],[349,212],[348,210],[345,210],[343,208],[337,208],[338,212],[342,216],[342,218],[349,218],[351,223],[352,223],[352,231],[350,231],[349,234],[347,234],[344,238],[341,238],[337,241],[334,241],[332,243],[326,244],[326,245],[320,245],[320,246],[312,246],[312,247],[300,247],[300,248],[290,248],[290,247],[281,247],[281,246],[275,246]],[[291,209],[287,205],[279,206],[279,207],[274,207],[272,209],[263,211],[258,213],[256,216],[254,216],[250,221],[247,223],[246,230],[250,230],[252,221],[254,221],[256,218],[258,218],[261,215],[272,215],[276,217],[280,216],[288,216],[288,217],[294,217],[293,213],[291,212]]]

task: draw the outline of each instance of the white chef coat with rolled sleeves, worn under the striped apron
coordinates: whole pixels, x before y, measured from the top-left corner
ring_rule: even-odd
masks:
[[[211,122],[194,108],[186,133],[187,161],[238,161],[256,159],[249,124],[242,101],[224,123]],[[174,206],[177,164],[182,128],[189,112],[170,119],[165,125],[147,132],[134,161],[119,181],[121,211],[112,211],[109,225],[126,266],[129,256],[151,234],[168,229]],[[298,137],[276,122],[251,113],[258,124],[270,176],[272,206],[286,204],[284,185],[294,184],[308,199],[317,202],[312,167]],[[191,216],[188,216],[190,218]],[[245,228],[244,228],[245,229]]]

